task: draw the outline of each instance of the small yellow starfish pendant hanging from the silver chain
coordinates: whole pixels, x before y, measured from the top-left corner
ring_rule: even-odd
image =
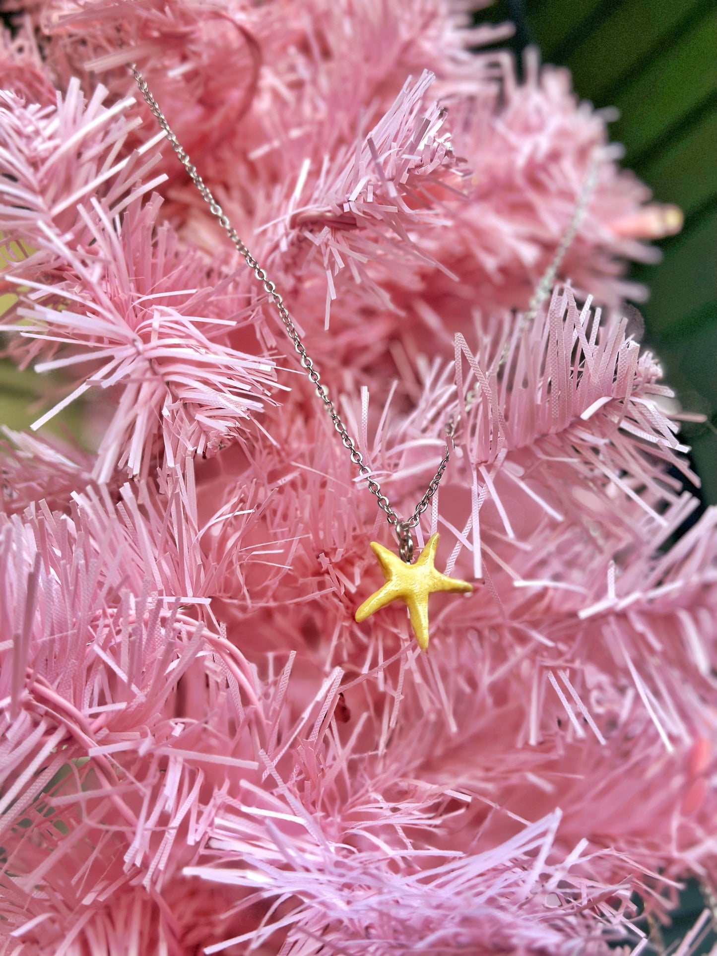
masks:
[[[448,577],[436,571],[433,561],[438,548],[438,534],[431,534],[421,556],[415,564],[405,561],[376,541],[371,550],[379,558],[380,569],[386,583],[371,597],[367,597],[356,612],[359,623],[393,600],[405,601],[411,618],[411,627],[422,651],[428,648],[428,595],[434,591],[461,591],[473,588],[467,581]]]

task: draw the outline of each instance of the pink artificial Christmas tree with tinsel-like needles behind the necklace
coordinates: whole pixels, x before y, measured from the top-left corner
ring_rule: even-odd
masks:
[[[444,0],[24,10],[3,318],[101,434],[3,451],[0,951],[649,951],[715,876],[717,514],[603,119]],[[355,619],[366,478],[407,517],[446,452],[424,653]]]

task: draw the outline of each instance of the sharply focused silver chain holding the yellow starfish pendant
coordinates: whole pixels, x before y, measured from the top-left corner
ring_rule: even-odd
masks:
[[[326,410],[326,413],[328,414],[331,421],[334,423],[334,427],[337,430],[338,437],[341,439],[341,443],[349,452],[351,461],[354,463],[354,465],[356,465],[356,467],[358,467],[359,474],[361,475],[361,477],[366,479],[366,484],[368,486],[369,491],[376,497],[380,510],[385,512],[386,521],[388,522],[389,525],[391,525],[394,528],[396,535],[399,539],[400,554],[403,560],[410,563],[411,558],[413,556],[413,540],[411,538],[411,529],[415,528],[416,525],[419,523],[421,515],[424,513],[424,511],[428,507],[428,504],[431,498],[436,493],[436,489],[438,489],[439,483],[444,476],[445,468],[447,467],[448,459],[450,458],[450,449],[448,447],[448,443],[450,442],[452,444],[452,440],[453,440],[453,431],[454,431],[453,419],[451,419],[448,422],[448,424],[446,424],[445,426],[445,437],[446,437],[445,455],[441,461],[441,464],[438,466],[438,470],[436,471],[435,475],[431,479],[430,484],[428,485],[428,488],[425,489],[423,498],[418,503],[418,505],[416,505],[416,508],[413,511],[413,514],[411,514],[409,518],[406,518],[405,520],[402,521],[402,519],[399,517],[396,511],[394,511],[394,509],[391,507],[391,503],[389,502],[386,495],[383,494],[383,492],[381,491],[379,482],[377,482],[374,478],[371,477],[371,468],[369,468],[367,465],[364,465],[363,458],[361,456],[359,448],[356,446],[354,440],[349,435],[346,429],[346,425],[343,424],[343,422],[341,421],[341,418],[336,409],[336,405],[329,398],[328,388],[326,387],[326,385],[321,384],[320,376],[314,367],[314,362],[309,357],[306,351],[306,348],[304,346],[304,343],[301,341],[299,334],[296,332],[296,328],[292,321],[292,316],[289,315],[289,312],[286,306],[284,305],[281,295],[279,295],[279,293],[276,292],[276,287],[274,286],[273,282],[269,279],[267,273],[260,267],[256,259],[254,259],[254,257],[251,255],[250,250],[244,244],[242,239],[239,237],[236,229],[230,224],[228,216],[222,209],[222,206],[220,206],[219,203],[217,203],[216,199],[211,193],[211,190],[209,189],[209,187],[206,185],[202,177],[197,172],[196,167],[193,165],[193,163],[191,163],[188,155],[185,153],[184,147],[182,146],[180,141],[177,139],[176,135],[174,134],[174,131],[172,130],[169,123],[167,122],[166,118],[164,117],[163,112],[157,103],[157,100],[152,96],[152,93],[150,92],[150,89],[147,86],[147,82],[144,79],[144,77],[141,75],[140,71],[137,69],[137,66],[135,64],[131,64],[130,70],[132,71],[132,75],[135,77],[135,80],[137,81],[137,85],[140,88],[141,95],[146,101],[147,106],[152,111],[154,118],[163,128],[164,134],[166,135],[166,138],[169,141],[169,145],[177,154],[177,159],[185,167],[185,170],[189,179],[192,181],[192,183],[197,187],[197,189],[201,193],[202,198],[206,202],[206,205],[209,206],[209,212],[217,218],[217,220],[219,221],[219,225],[225,230],[225,232],[227,233],[229,239],[233,243],[236,250],[239,251],[239,253],[244,258],[244,261],[249,266],[251,272],[254,273],[254,277],[256,281],[262,286],[262,288],[264,289],[264,292],[269,295],[274,306],[276,307],[276,311],[278,312],[281,318],[281,321],[284,324],[286,333],[292,340],[294,349],[301,357],[300,359],[301,364],[306,369],[306,373],[309,379],[314,384],[316,394],[318,395],[321,402],[323,402],[323,406],[324,406],[324,409]]]

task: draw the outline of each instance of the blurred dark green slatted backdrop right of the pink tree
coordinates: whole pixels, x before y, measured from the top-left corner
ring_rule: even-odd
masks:
[[[511,20],[511,47],[529,44],[567,66],[576,94],[615,106],[611,139],[655,199],[684,212],[657,245],[663,261],[633,266],[651,290],[639,303],[644,341],[663,361],[683,408],[705,503],[717,503],[717,4],[713,0],[500,0],[479,21]]]

